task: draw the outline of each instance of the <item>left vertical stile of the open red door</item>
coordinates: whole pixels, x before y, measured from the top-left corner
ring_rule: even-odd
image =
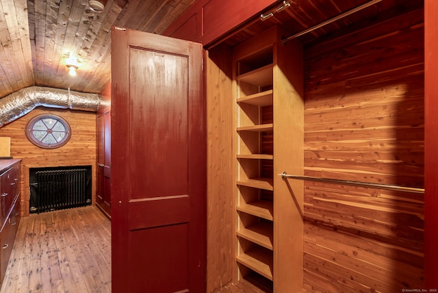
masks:
[[[111,29],[111,67],[113,70],[111,84],[111,150],[114,155],[111,157],[112,166],[125,166],[129,157],[129,144],[127,143],[127,131],[129,129],[129,119],[125,117],[127,110],[127,97],[129,92],[129,50],[128,31],[123,31],[112,27]],[[117,97],[116,99],[114,99]],[[128,136],[129,137],[129,136]],[[128,231],[128,209],[125,202],[125,194],[129,192],[131,178],[125,172],[125,168],[112,169],[112,178],[118,180],[111,182],[111,272],[112,272],[112,292],[127,292],[129,288],[129,251],[127,249]],[[120,201],[120,204],[119,204]]]

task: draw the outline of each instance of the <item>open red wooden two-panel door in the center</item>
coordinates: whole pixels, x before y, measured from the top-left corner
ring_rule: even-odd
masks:
[[[112,29],[112,292],[205,292],[201,44]]]

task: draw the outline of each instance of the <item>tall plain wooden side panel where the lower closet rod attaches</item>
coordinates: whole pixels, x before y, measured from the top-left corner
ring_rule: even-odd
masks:
[[[276,31],[281,40],[285,31]],[[298,40],[274,46],[274,292],[302,288],[304,183],[279,174],[303,175],[303,48]],[[294,277],[291,277],[294,276]]]

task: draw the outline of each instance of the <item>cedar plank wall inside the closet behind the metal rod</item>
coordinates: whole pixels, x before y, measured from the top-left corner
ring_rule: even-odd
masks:
[[[424,186],[417,10],[305,50],[305,175]],[[424,196],[305,183],[305,289],[423,287]]]

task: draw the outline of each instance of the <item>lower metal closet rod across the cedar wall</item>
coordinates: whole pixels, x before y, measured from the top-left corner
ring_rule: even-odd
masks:
[[[342,180],[342,179],[329,179],[329,178],[322,178],[322,177],[289,175],[285,172],[283,172],[279,175],[281,175],[281,178],[283,178],[283,179],[291,178],[291,179],[298,179],[298,180],[305,180],[305,181],[316,181],[316,182],[324,182],[324,183],[334,183],[334,184],[342,184],[342,185],[350,185],[350,186],[360,186],[360,187],[366,187],[366,188],[378,188],[378,189],[385,189],[385,190],[396,190],[396,191],[424,194],[424,188],[413,188],[413,187],[397,186],[397,185],[391,185],[391,184],[369,183],[369,182],[350,181],[350,180]]]

